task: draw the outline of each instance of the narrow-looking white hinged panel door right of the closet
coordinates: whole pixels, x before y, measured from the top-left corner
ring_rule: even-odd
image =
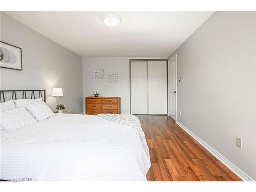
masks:
[[[177,90],[177,56],[174,56],[168,61],[168,76],[169,76],[169,90],[168,90],[168,115],[176,120],[176,90]]]

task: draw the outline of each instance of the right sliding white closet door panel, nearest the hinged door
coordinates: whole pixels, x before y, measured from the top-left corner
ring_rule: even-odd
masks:
[[[167,63],[147,61],[148,114],[167,114]]]

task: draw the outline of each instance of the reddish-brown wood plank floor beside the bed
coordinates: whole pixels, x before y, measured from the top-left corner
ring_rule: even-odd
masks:
[[[148,181],[241,181],[169,117],[137,116],[150,148]]]

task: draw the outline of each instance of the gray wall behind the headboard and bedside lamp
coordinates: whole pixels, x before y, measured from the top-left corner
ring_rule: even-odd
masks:
[[[52,88],[62,88],[60,103],[81,113],[82,58],[1,12],[1,41],[22,48],[23,70],[0,68],[1,89],[47,89],[47,104],[55,109]]]

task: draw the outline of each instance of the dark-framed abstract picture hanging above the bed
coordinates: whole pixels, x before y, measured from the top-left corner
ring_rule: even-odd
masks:
[[[22,49],[0,41],[0,67],[22,70]]]

